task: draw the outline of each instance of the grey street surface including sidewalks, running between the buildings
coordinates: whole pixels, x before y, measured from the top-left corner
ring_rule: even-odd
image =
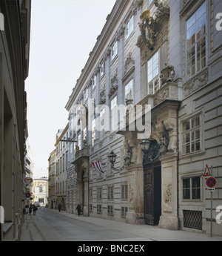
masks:
[[[157,226],[131,225],[95,217],[78,217],[65,211],[39,207],[27,214],[21,241],[222,241],[195,232],[170,231]],[[141,244],[141,243],[140,243]]]

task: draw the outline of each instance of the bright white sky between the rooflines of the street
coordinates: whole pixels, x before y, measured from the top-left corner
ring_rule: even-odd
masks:
[[[26,80],[34,176],[48,176],[55,134],[67,125],[65,105],[115,0],[32,0]]]

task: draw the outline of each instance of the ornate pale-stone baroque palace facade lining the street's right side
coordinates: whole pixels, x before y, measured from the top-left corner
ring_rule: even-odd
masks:
[[[222,234],[218,10],[216,0],[115,2],[65,106],[67,211],[80,203],[86,216],[209,233],[208,165]]]

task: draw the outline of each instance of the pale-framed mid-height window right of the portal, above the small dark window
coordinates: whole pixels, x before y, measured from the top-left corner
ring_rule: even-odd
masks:
[[[182,122],[182,154],[201,151],[200,116]]]

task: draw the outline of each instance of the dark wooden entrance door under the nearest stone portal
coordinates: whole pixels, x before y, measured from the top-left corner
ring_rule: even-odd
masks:
[[[161,216],[161,165],[144,165],[144,218],[148,225],[158,225]]]

